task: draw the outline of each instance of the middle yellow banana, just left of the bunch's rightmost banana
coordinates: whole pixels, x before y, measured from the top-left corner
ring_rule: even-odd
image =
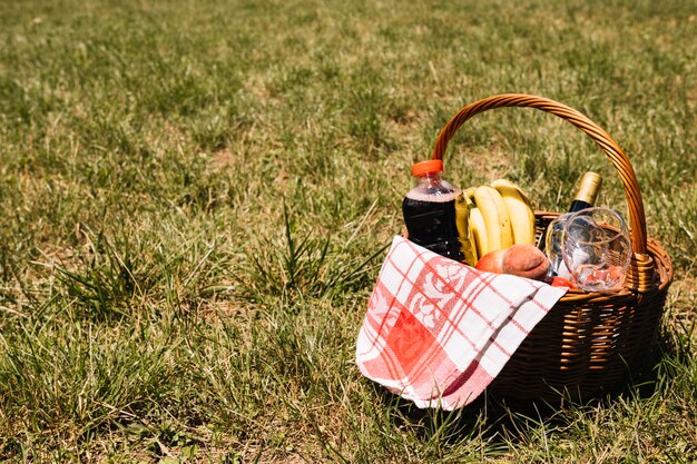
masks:
[[[484,254],[513,245],[511,220],[501,194],[491,186],[477,187],[477,190],[474,190],[474,203],[481,210],[487,227],[487,248]]]

